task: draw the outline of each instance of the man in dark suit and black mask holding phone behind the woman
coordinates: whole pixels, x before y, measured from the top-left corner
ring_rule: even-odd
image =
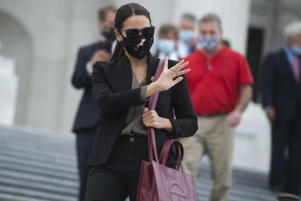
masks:
[[[101,8],[98,12],[98,26],[101,33],[100,41],[82,47],[77,56],[77,62],[72,77],[72,84],[85,92],[77,111],[72,131],[77,134],[77,158],[80,175],[79,200],[85,200],[87,177],[90,168],[86,161],[94,144],[101,112],[96,107],[92,95],[92,68],[97,61],[109,61],[114,49],[116,35],[114,19],[117,9],[114,6]]]

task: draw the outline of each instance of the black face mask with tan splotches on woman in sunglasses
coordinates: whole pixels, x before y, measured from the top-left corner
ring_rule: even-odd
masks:
[[[146,57],[148,52],[150,52],[151,46],[154,43],[154,36],[145,39],[141,34],[134,41],[130,41],[128,37],[124,37],[123,35],[121,36],[122,36],[123,46],[125,47],[125,51],[127,51],[129,55],[131,55],[132,57],[136,57],[137,59],[142,59]],[[145,41],[142,43],[142,40]]]

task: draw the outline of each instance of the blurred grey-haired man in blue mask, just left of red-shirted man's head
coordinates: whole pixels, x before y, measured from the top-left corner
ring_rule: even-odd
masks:
[[[179,40],[177,41],[177,54],[180,58],[187,57],[198,44],[194,36],[196,18],[192,14],[184,14],[179,27]]]

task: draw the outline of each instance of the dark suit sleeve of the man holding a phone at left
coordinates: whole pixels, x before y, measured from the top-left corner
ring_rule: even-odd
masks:
[[[81,48],[78,52],[77,62],[75,65],[75,70],[72,76],[72,84],[76,88],[82,88],[91,84],[91,76],[88,75],[86,64],[90,57]]]

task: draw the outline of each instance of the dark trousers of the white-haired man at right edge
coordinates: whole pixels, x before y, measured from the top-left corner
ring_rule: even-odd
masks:
[[[288,153],[288,155],[285,153]],[[278,120],[272,125],[272,163],[270,185],[285,192],[300,194],[300,112],[297,112],[296,116],[292,120]]]

